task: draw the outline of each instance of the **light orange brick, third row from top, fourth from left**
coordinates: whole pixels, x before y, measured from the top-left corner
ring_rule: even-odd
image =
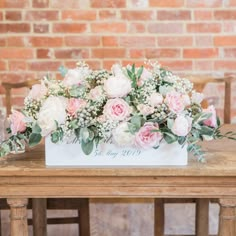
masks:
[[[91,23],[91,31],[93,33],[125,33],[126,23],[112,22],[112,23]]]

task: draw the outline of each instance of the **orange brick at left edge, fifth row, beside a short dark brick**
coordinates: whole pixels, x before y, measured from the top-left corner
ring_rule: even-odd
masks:
[[[34,52],[31,48],[0,48],[0,58],[4,59],[30,59]]]

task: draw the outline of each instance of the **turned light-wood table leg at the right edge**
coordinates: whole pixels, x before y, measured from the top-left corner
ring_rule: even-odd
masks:
[[[236,198],[220,199],[219,236],[236,235]]]

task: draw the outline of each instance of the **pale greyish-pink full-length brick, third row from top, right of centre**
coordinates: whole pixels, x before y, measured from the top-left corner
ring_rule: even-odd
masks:
[[[182,23],[150,23],[148,32],[154,34],[181,34],[184,31]]]

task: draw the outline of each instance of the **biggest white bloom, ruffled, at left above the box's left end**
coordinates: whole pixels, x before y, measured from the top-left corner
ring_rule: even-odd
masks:
[[[56,129],[56,122],[61,125],[66,120],[66,99],[63,97],[48,97],[38,114],[38,125],[42,136],[47,136]]]

